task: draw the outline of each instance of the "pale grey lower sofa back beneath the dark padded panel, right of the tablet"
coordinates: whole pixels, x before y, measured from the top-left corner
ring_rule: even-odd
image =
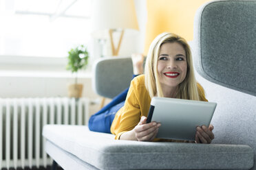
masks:
[[[206,99],[217,102],[211,121],[213,143],[248,145],[256,162],[256,97],[214,84],[198,74],[196,79],[204,87]]]

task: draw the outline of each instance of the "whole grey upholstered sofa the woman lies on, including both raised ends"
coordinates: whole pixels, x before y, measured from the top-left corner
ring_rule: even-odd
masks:
[[[63,169],[256,169],[255,14],[256,1],[213,1],[195,18],[196,77],[217,102],[213,144],[115,141],[85,126],[45,125],[47,154]],[[96,92],[117,95],[131,68],[130,58],[96,62]]]

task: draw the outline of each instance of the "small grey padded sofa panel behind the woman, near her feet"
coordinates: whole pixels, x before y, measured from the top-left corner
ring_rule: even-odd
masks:
[[[111,57],[94,63],[94,91],[103,97],[114,98],[128,88],[133,69],[131,58]]]

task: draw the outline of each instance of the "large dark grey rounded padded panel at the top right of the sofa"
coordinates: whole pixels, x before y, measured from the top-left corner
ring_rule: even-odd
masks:
[[[256,96],[256,1],[213,1],[195,16],[198,72]]]

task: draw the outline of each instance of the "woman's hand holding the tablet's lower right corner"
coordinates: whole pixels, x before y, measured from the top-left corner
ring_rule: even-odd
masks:
[[[209,125],[209,127],[206,127],[206,125],[196,127],[195,143],[211,143],[213,138],[213,125]]]

